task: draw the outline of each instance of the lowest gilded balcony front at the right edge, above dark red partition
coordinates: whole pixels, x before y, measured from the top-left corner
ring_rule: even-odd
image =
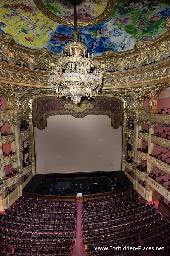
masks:
[[[148,177],[148,184],[160,195],[164,196],[164,198],[167,199],[168,202],[170,202],[170,190],[162,186],[155,179],[152,179],[151,176]]]

